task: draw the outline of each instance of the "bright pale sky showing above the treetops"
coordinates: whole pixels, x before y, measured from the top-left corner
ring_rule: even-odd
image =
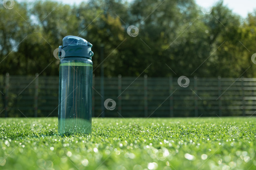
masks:
[[[24,1],[24,0],[15,0],[18,2]],[[33,0],[26,0],[29,2],[32,2]],[[70,4],[73,5],[75,4],[79,4],[82,1],[87,1],[87,0],[56,0],[62,3],[66,3],[66,4]],[[127,0],[128,2],[132,1],[132,0]],[[199,6],[202,7],[210,7],[213,6],[216,2],[218,2],[218,0],[195,0],[196,3]],[[223,0],[224,4],[227,5],[229,7],[229,9],[232,9],[234,13],[237,13],[239,15],[241,15],[243,18],[247,18],[247,14],[249,12],[253,12],[254,9],[256,10],[256,0]]]

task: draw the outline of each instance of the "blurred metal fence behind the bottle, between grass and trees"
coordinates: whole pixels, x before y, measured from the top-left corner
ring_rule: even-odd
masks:
[[[189,78],[186,88],[177,80],[93,77],[93,116],[248,116],[256,111],[256,78]],[[58,76],[7,73],[0,76],[0,93],[0,117],[58,116]],[[103,106],[106,99],[116,102],[114,110]]]

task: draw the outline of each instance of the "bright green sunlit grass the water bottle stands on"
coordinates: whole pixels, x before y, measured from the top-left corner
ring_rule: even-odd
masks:
[[[1,118],[0,169],[252,170],[255,123],[255,117],[94,118],[91,134],[61,137],[58,118]]]

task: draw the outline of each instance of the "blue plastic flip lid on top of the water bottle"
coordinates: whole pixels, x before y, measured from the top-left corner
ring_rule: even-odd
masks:
[[[93,52],[91,48],[92,44],[81,37],[66,36],[62,40],[62,46],[59,46],[59,51],[61,51],[59,57],[87,57],[92,59]]]

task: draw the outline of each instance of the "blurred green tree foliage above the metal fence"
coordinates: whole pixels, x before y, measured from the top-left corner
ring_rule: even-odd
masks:
[[[93,44],[96,76],[101,63],[105,76],[238,77],[250,66],[243,76],[256,75],[256,13],[245,20],[222,1],[210,14],[190,0],[15,1],[13,9],[0,11],[0,74],[58,75],[53,51],[74,35]],[[129,25],[138,36],[127,34]]]

